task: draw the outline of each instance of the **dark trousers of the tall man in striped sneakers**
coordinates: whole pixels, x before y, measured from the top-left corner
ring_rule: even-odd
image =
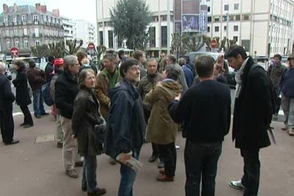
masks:
[[[244,196],[257,196],[260,176],[259,149],[241,149],[241,156],[244,158]]]

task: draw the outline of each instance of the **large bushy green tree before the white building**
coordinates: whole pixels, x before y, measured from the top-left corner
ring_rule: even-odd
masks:
[[[144,49],[151,11],[146,0],[118,0],[110,9],[114,34],[126,40],[129,49]]]

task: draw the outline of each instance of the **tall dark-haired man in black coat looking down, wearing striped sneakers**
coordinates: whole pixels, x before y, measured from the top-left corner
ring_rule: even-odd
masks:
[[[230,186],[242,189],[244,196],[257,196],[260,176],[259,149],[270,146],[268,127],[272,116],[270,78],[261,67],[254,66],[241,46],[231,46],[225,53],[229,65],[236,73],[233,140],[244,158],[244,175]]]

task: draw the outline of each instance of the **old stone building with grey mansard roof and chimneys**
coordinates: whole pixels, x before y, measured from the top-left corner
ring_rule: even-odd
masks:
[[[13,6],[3,4],[0,14],[0,49],[9,54],[12,47],[20,50],[19,56],[30,56],[31,47],[56,43],[64,39],[59,10],[47,11],[46,5]]]

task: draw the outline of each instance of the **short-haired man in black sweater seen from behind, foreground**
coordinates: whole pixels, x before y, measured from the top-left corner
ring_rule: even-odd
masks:
[[[215,177],[224,136],[231,122],[230,89],[214,79],[213,60],[200,56],[195,63],[200,83],[188,89],[170,105],[172,120],[185,122],[186,196],[215,195]]]

